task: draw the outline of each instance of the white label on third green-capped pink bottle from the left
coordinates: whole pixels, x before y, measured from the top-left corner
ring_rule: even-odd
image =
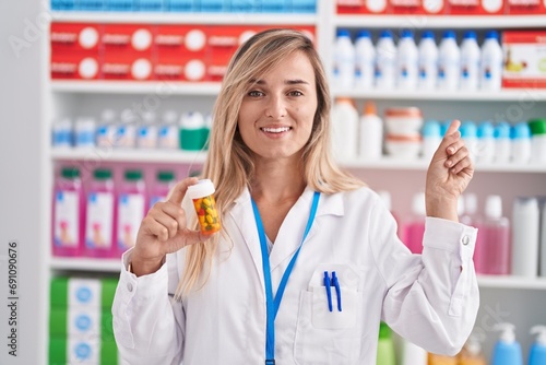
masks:
[[[144,197],[123,193],[118,203],[118,248],[124,251],[133,247],[136,240],[136,233],[144,219]]]

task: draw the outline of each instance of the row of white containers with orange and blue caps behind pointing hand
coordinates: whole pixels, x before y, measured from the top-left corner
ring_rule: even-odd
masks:
[[[340,162],[383,155],[429,161],[451,122],[425,119],[417,107],[389,107],[381,118],[372,102],[361,115],[355,105],[352,98],[339,97],[332,108],[333,150]],[[460,131],[476,162],[546,164],[546,119],[514,125],[465,120]]]

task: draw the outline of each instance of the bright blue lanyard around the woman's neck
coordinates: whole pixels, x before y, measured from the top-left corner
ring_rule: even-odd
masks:
[[[271,269],[270,269],[270,259],[268,254],[268,242],[265,240],[265,231],[263,229],[262,219],[260,217],[260,212],[258,211],[258,207],[256,202],[252,200],[252,209],[254,211],[256,226],[258,227],[258,235],[260,236],[260,247],[262,249],[262,268],[263,268],[263,281],[265,283],[265,304],[266,304],[266,333],[265,333],[265,364],[272,365],[275,364],[275,317],[278,311],[278,307],[281,306],[281,301],[283,299],[284,290],[286,287],[286,283],[288,282],[288,278],[290,276],[292,270],[294,269],[294,264],[299,255],[299,250],[304,245],[304,242],[311,229],[312,222],[314,221],[314,215],[317,214],[317,207],[319,205],[320,192],[314,191],[314,196],[312,197],[312,205],[311,212],[309,213],[309,220],[307,221],[306,231],[304,233],[304,237],[301,238],[301,244],[299,244],[298,249],[294,252],[286,271],[281,279],[281,283],[278,284],[278,289],[276,291],[276,295],[273,297],[273,289],[271,285]]]

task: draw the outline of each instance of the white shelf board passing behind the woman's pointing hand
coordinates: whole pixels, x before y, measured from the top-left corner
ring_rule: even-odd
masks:
[[[347,168],[369,168],[369,169],[396,169],[396,170],[426,170],[428,168],[429,162],[415,158],[395,158],[395,157],[382,157],[376,161],[360,161],[352,160],[345,161],[343,163],[344,167]],[[476,172],[480,173],[536,173],[545,174],[546,164],[494,164],[494,163],[477,163]]]

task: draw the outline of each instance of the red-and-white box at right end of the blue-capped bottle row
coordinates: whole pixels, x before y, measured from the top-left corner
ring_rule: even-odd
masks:
[[[506,31],[502,87],[546,87],[546,31]]]

